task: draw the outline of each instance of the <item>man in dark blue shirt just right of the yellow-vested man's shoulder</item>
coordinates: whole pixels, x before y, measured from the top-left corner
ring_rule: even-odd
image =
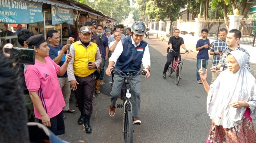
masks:
[[[105,67],[105,61],[107,61],[109,59],[109,38],[107,38],[107,36],[103,35],[103,26],[98,24],[96,26],[97,29],[97,36],[99,36],[102,41],[103,41],[103,45],[101,45],[102,47],[102,65],[100,66],[100,84],[104,84],[103,82],[103,77],[104,77],[104,67]]]

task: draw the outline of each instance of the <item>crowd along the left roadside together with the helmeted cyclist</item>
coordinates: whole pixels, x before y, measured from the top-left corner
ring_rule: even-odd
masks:
[[[100,24],[94,25],[90,21],[79,29],[79,37],[74,42],[70,37],[71,45],[60,45],[60,35],[57,30],[49,30],[46,39],[42,34],[33,35],[27,29],[18,31],[18,42],[22,48],[34,49],[35,64],[19,64],[13,62],[17,69],[19,85],[23,92],[27,109],[27,120],[43,124],[54,135],[65,133],[65,114],[76,114],[77,111],[69,108],[71,89],[74,90],[80,118],[78,124],[85,126],[85,132],[91,133],[91,114],[93,114],[94,93],[100,94],[100,85],[104,84],[104,75],[111,75],[114,65],[116,69],[129,73],[129,70],[139,71],[141,64],[147,72],[146,78],[150,76],[149,47],[143,41],[145,25],[137,21],[128,29],[129,36],[122,34],[123,25],[117,25],[109,38],[103,34],[104,27]],[[110,42],[109,42],[110,41]],[[122,42],[121,42],[122,41]],[[123,45],[122,43],[126,44]],[[5,48],[13,48],[6,44],[3,53],[6,57],[10,55],[4,52]],[[131,57],[135,49],[134,57]],[[109,51],[113,53],[109,59]],[[116,51],[116,52],[114,52]],[[106,71],[105,61],[109,60]],[[119,75],[113,75],[111,91],[111,106],[109,114],[114,116],[116,98],[120,95],[124,81]],[[133,119],[135,124],[140,124],[140,77],[134,79],[136,88],[132,89]],[[124,93],[123,93],[124,94]],[[22,102],[23,104],[23,102]],[[22,106],[22,105],[21,105]]]

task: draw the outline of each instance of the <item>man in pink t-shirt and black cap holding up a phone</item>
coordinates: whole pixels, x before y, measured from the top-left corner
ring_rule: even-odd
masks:
[[[42,34],[31,36],[26,41],[35,50],[35,64],[25,70],[25,82],[34,104],[34,114],[39,123],[47,126],[55,135],[65,133],[62,107],[65,106],[57,75],[67,71],[71,54],[60,67],[49,56],[50,48]]]

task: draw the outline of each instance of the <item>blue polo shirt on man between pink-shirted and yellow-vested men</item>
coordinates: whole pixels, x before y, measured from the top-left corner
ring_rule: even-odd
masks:
[[[57,57],[60,54],[60,51],[61,51],[63,46],[58,45],[57,47],[54,47],[54,46],[48,45],[48,47],[50,48],[49,57],[51,59],[54,59],[55,57]],[[62,59],[61,59],[60,63],[58,64],[59,66],[62,66],[64,64],[65,57],[66,57],[66,55],[63,54]],[[65,74],[63,76],[58,76],[58,77],[67,77],[67,71],[65,72]]]

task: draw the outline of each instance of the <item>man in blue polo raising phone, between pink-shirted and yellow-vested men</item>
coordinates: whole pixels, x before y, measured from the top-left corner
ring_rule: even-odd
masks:
[[[67,50],[69,45],[60,45],[60,35],[57,30],[49,30],[47,32],[47,39],[49,40],[49,57],[54,61],[54,63],[62,66],[65,62],[65,54],[67,54]],[[70,43],[74,42],[74,38],[69,37]],[[75,110],[69,109],[69,98],[70,98],[70,83],[67,77],[67,71],[63,76],[58,76],[58,80],[60,82],[60,88],[62,89],[62,94],[65,100],[65,107],[63,107],[63,112],[68,113],[76,113]],[[63,116],[66,119],[65,116]]]

